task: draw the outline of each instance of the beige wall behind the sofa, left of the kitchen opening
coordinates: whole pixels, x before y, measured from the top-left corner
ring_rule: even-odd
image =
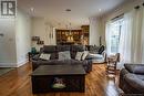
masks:
[[[50,34],[53,33],[53,39]],[[55,30],[44,18],[32,18],[32,36],[40,36],[41,41],[44,41],[45,45],[55,45]],[[39,49],[43,45],[38,45],[32,41],[32,46]]]

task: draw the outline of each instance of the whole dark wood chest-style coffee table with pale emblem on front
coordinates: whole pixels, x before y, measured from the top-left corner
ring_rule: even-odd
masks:
[[[84,92],[82,65],[41,65],[31,75],[32,92]]]

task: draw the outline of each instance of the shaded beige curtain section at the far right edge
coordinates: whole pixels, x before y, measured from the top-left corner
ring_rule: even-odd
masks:
[[[132,31],[132,63],[142,63],[142,9],[135,9]]]

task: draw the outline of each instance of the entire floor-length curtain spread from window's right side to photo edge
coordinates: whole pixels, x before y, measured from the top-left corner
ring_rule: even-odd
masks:
[[[120,40],[122,63],[144,63],[144,8],[124,14]]]

